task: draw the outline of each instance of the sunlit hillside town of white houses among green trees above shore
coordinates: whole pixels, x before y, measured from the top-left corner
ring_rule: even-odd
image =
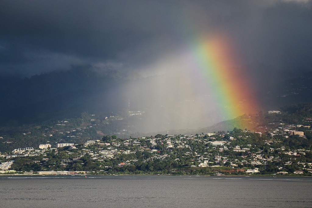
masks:
[[[2,152],[0,173],[312,176],[311,121],[306,118],[304,125],[272,122],[259,126],[258,132],[234,128],[195,135],[107,135],[79,143],[60,139],[53,146],[47,142]],[[56,125],[65,126],[66,121]],[[58,134],[72,138],[84,129]]]

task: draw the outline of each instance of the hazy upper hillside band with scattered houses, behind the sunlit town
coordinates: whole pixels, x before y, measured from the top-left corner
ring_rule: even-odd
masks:
[[[250,132],[277,131],[280,126],[297,126],[300,131],[310,129],[312,103],[283,106],[281,113],[243,115],[232,120],[222,121],[215,125],[196,129],[167,129],[166,131],[142,130],[147,121],[144,113],[130,116],[128,112],[119,112],[116,116],[94,115],[83,112],[79,117],[66,120],[46,121],[41,124],[23,126],[0,126],[0,151],[12,151],[25,146],[36,147],[39,144],[57,143],[80,144],[87,140],[102,140],[105,136],[115,135],[121,140],[155,135],[196,135],[209,132],[224,134],[234,129]],[[305,125],[305,127],[303,126]],[[241,131],[240,130],[240,131]],[[305,132],[311,138],[310,130]],[[300,139],[300,137],[299,137]]]

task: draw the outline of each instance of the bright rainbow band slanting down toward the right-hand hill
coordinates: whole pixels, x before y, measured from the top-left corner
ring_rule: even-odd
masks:
[[[258,111],[250,78],[246,76],[229,38],[218,35],[200,38],[192,49],[193,58],[206,83],[212,89],[220,116],[233,119]]]

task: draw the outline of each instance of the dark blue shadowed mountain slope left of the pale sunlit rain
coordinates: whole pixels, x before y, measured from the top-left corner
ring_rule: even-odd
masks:
[[[119,110],[125,105],[119,105],[118,96],[112,99],[121,83],[115,76],[99,76],[87,67],[30,78],[2,76],[1,123],[24,124],[75,117],[83,111]]]

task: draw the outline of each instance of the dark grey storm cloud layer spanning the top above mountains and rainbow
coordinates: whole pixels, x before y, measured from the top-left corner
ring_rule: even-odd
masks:
[[[278,71],[311,64],[311,1],[0,4],[1,71],[32,75],[106,61],[135,68],[215,31],[229,34],[246,62]]]

